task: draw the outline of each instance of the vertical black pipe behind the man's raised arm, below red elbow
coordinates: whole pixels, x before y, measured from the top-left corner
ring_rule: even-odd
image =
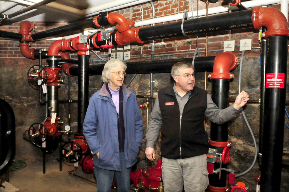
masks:
[[[229,106],[229,79],[212,79],[212,100],[220,108],[225,109]],[[228,141],[228,125],[225,122],[222,125],[211,122],[211,140],[217,142]],[[218,153],[222,153],[224,147],[213,147]],[[220,168],[220,163],[215,163],[214,169]],[[222,168],[227,168],[226,164],[222,164]],[[227,171],[221,170],[221,177],[219,173],[209,176],[209,183],[214,187],[225,187],[227,182]]]

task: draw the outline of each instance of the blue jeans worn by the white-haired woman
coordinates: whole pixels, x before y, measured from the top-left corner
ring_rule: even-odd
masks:
[[[126,168],[124,152],[119,153],[120,171],[101,169],[94,166],[94,174],[97,182],[96,192],[110,192],[113,176],[117,186],[117,192],[130,191],[130,169]]]

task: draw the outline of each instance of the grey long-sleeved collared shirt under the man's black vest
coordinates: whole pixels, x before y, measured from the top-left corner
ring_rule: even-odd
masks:
[[[188,101],[188,98],[191,94],[191,91],[187,92],[183,97],[181,97],[174,86],[174,92],[176,99],[178,101],[180,115],[183,113],[183,108]],[[233,107],[233,104],[227,107],[226,109],[220,109],[213,102],[212,98],[207,94],[207,109],[205,111],[205,116],[209,118],[212,122],[216,124],[223,124],[233,118],[240,110],[237,110]],[[157,96],[154,108],[150,115],[150,121],[148,124],[148,133],[146,134],[146,147],[154,148],[154,143],[159,136],[159,132],[162,125],[162,115],[161,109],[159,107],[159,97]]]

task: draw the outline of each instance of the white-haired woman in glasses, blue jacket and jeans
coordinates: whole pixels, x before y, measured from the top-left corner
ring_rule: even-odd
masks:
[[[126,63],[113,59],[104,65],[102,88],[90,100],[83,134],[93,155],[97,192],[109,192],[115,177],[117,191],[130,191],[130,167],[142,143],[142,117],[135,94],[125,87]]]

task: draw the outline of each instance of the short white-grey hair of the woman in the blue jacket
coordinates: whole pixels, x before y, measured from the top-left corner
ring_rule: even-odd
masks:
[[[126,70],[126,63],[123,61],[120,61],[119,59],[111,59],[104,65],[103,71],[102,71],[102,81],[104,83],[108,83],[109,79],[111,78],[111,72],[113,72],[115,67],[122,66],[124,67],[124,70]]]

